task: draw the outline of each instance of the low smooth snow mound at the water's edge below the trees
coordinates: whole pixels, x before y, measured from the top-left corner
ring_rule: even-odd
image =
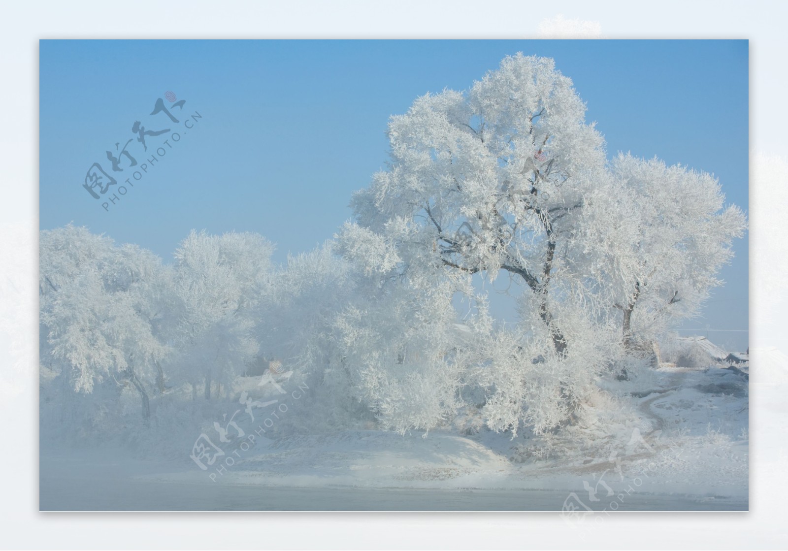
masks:
[[[357,430],[266,441],[217,478],[261,486],[458,488],[482,480],[487,485],[511,470],[506,457],[468,438]],[[183,482],[210,474],[191,471],[167,478]]]

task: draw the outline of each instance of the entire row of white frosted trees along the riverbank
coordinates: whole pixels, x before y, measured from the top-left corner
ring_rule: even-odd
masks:
[[[522,54],[422,96],[389,121],[388,166],[353,195],[352,222],[284,265],[253,233],[192,232],[164,263],[84,228],[42,231],[52,399],[136,396],[149,419],[162,396],[234,398],[255,359],[277,359],[348,423],[583,423],[600,378],[697,315],[745,231],[714,177],[608,159],[584,117],[553,61]],[[500,278],[515,324],[489,308]]]

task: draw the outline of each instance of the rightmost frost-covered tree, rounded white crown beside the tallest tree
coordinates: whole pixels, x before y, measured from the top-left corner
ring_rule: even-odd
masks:
[[[622,231],[607,237],[619,274],[609,281],[623,341],[633,348],[697,314],[709,290],[722,284],[717,274],[733,256],[745,216],[724,206],[711,174],[631,155],[615,158],[611,171],[623,191],[615,198]]]

